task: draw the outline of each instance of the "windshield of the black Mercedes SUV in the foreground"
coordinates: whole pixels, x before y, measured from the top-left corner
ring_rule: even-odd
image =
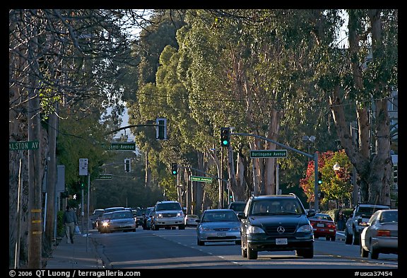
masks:
[[[302,214],[302,209],[295,200],[258,200],[252,206],[251,215],[273,215],[273,214]]]

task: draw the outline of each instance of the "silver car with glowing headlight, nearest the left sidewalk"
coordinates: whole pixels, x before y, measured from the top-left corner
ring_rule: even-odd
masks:
[[[112,233],[114,231],[136,231],[136,220],[134,220],[131,210],[114,211],[105,221],[102,221],[100,233]]]

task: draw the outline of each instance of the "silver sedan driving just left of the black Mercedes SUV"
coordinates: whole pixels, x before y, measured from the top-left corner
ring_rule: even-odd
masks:
[[[240,220],[232,209],[206,209],[196,226],[198,245],[213,242],[240,244]]]

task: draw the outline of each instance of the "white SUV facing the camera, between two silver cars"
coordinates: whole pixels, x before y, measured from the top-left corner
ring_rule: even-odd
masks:
[[[151,219],[151,229],[157,231],[159,228],[178,227],[185,229],[184,212],[177,201],[157,202],[154,207],[155,214]]]

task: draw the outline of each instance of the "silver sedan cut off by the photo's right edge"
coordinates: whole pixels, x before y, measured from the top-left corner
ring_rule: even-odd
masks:
[[[380,209],[367,221],[360,234],[360,256],[377,260],[379,253],[398,254],[399,210]]]

